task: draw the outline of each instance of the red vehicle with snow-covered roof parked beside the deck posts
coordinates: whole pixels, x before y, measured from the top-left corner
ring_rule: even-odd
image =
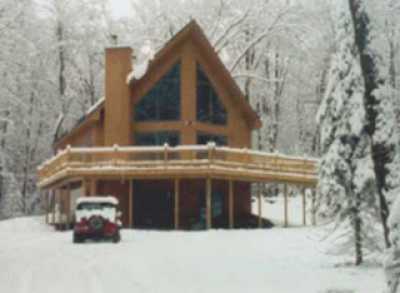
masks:
[[[75,210],[73,242],[82,243],[87,239],[121,240],[121,212],[118,200],[111,196],[78,198]]]

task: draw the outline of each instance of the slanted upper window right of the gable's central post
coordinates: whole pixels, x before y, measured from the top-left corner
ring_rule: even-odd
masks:
[[[225,125],[227,121],[225,107],[199,64],[197,64],[197,120],[220,125]]]

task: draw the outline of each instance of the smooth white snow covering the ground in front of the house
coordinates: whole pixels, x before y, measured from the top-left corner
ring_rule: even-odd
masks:
[[[298,200],[290,208],[301,222]],[[281,211],[279,202],[264,205],[272,217]],[[71,232],[43,222],[0,222],[0,292],[383,292],[379,267],[335,266],[320,228],[125,230],[119,244],[74,245]]]

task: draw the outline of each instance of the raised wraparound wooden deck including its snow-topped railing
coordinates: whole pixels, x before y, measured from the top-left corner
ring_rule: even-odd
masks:
[[[317,160],[214,144],[67,147],[38,168],[38,177],[40,188],[74,178],[201,177],[313,187],[317,183]]]

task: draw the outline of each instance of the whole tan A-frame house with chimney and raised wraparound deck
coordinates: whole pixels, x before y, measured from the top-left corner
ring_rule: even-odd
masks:
[[[137,79],[132,54],[105,50],[105,98],[39,167],[48,222],[70,223],[79,196],[113,195],[125,227],[263,226],[254,186],[315,186],[315,161],[251,150],[260,119],[195,21]]]

